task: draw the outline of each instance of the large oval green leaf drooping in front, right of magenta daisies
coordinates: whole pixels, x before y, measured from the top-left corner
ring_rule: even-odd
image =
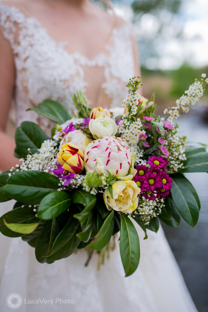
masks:
[[[199,218],[198,196],[192,184],[180,173],[173,174],[171,195],[181,217],[194,227]],[[192,190],[194,189],[194,193]]]

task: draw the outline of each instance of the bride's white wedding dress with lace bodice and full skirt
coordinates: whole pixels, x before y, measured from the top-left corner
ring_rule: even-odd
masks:
[[[72,95],[78,90],[85,92],[90,83],[85,77],[86,68],[97,67],[103,71],[101,94],[105,96],[105,103],[108,99],[109,107],[120,105],[125,97],[125,83],[134,76],[128,24],[114,28],[109,45],[93,60],[80,53],[70,54],[64,43],[49,36],[35,18],[26,17],[5,2],[0,2],[0,25],[15,56],[17,125],[31,120],[48,131],[48,119],[26,112],[27,108],[46,98],[59,101],[72,114]],[[105,103],[102,106],[106,106]],[[1,215],[12,206],[13,201],[2,203]],[[143,231],[136,227],[141,259],[138,269],[127,278],[124,277],[118,242],[110,259],[106,259],[97,271],[97,255],[87,267],[84,266],[88,257],[85,250],[51,265],[40,264],[36,261],[34,248],[21,238],[1,235],[0,310],[11,311],[6,303],[7,296],[18,293],[23,298],[19,311],[24,312],[196,312],[162,228],[157,234],[148,231],[148,239],[143,240]],[[39,299],[53,300],[53,304],[51,301],[29,303]],[[60,304],[56,299],[70,299],[74,303]]]

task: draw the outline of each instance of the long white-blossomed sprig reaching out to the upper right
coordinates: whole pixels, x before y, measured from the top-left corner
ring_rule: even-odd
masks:
[[[205,90],[205,85],[208,83],[206,74],[201,75],[201,81],[195,80],[195,82],[189,86],[189,89],[185,91],[180,99],[176,100],[176,106],[166,108],[164,114],[169,114],[167,121],[172,122],[173,119],[180,117],[180,109],[187,113],[189,111],[188,105],[195,105],[196,102],[201,98]]]

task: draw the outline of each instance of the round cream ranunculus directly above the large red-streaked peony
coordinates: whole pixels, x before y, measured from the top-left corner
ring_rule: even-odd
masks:
[[[112,118],[104,116],[96,119],[90,119],[89,131],[93,135],[94,139],[100,139],[106,135],[115,135],[118,131],[118,127]]]

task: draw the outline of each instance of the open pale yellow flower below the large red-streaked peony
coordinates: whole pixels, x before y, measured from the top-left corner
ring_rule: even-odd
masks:
[[[134,181],[116,181],[112,185],[113,198],[108,188],[105,189],[103,198],[108,210],[131,213],[138,207],[137,195],[141,192]]]

